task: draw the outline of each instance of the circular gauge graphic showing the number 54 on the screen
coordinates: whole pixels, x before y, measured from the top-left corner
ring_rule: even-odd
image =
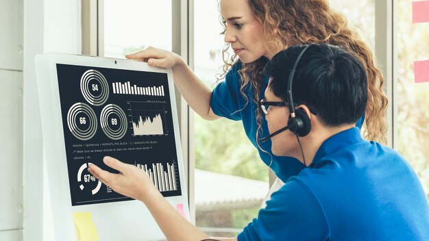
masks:
[[[80,78],[82,95],[91,105],[100,106],[109,97],[109,86],[106,78],[94,69],[86,71]]]

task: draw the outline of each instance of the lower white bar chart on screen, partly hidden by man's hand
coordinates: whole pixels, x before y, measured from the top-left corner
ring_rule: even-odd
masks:
[[[155,187],[160,192],[168,192],[177,190],[177,180],[175,175],[175,164],[174,162],[164,166],[161,163],[149,164],[136,164],[136,166],[145,172]]]

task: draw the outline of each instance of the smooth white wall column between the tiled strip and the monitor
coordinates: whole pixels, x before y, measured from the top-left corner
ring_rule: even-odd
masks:
[[[1,0],[3,1],[3,0]],[[15,1],[15,0],[9,0]],[[34,57],[38,53],[80,53],[80,1],[24,1],[23,240],[49,240],[43,210],[42,132]],[[2,240],[0,238],[0,240]]]

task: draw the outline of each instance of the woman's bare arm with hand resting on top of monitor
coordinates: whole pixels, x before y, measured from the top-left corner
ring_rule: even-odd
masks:
[[[219,118],[210,107],[212,91],[191,71],[180,55],[148,47],[143,51],[126,55],[126,58],[147,62],[149,66],[172,68],[174,82],[192,109],[206,120]]]

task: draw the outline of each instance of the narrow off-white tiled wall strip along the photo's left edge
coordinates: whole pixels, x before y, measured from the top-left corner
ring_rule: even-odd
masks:
[[[23,239],[23,0],[0,1],[0,240]]]

